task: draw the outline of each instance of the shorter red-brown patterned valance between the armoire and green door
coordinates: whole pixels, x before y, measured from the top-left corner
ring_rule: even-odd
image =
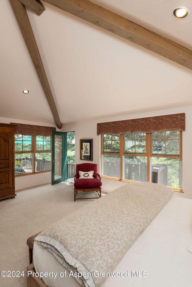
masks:
[[[13,123],[11,123],[13,124]],[[53,127],[44,127],[41,125],[25,125],[25,124],[16,124],[15,134],[22,134],[22,135],[41,135],[44,137],[50,137],[52,135],[52,131],[56,131],[56,128]]]

